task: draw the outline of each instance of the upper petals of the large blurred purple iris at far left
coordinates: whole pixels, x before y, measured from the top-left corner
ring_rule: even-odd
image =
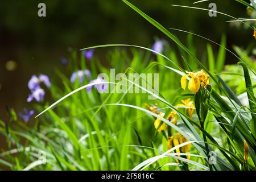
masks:
[[[28,88],[32,91],[37,90],[40,88],[40,83],[44,82],[44,84],[46,84],[47,87],[51,86],[51,82],[49,81],[49,77],[46,75],[40,75],[39,77],[37,77],[36,75],[33,75],[30,78],[30,81],[28,81]]]

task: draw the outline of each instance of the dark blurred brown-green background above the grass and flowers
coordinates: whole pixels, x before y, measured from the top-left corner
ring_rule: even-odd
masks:
[[[47,16],[38,16],[38,4],[46,3]],[[193,5],[189,0],[130,0],[164,27],[193,31],[216,42],[228,34],[228,48],[247,47],[252,40],[249,29],[230,27],[227,16],[210,18],[208,11],[171,6],[187,5],[208,8],[217,4],[217,11],[247,18],[246,7],[234,0],[208,1]],[[174,32],[182,42],[186,34]],[[20,111],[31,107],[26,102],[31,75],[44,73],[53,77],[53,69],[60,67],[60,57],[68,57],[69,49],[100,44],[124,43],[151,47],[154,38],[167,39],[150,23],[130,9],[121,0],[48,0],[0,2],[0,118],[6,119],[6,105]],[[168,40],[168,39],[167,39]],[[205,50],[205,40],[196,38],[197,50]],[[170,44],[173,44],[170,41]],[[214,48],[218,48],[215,47]],[[202,51],[203,52],[203,51]],[[200,53],[200,52],[199,52]],[[102,52],[96,51],[96,55]],[[7,61],[16,63],[14,71],[6,69]],[[232,56],[227,63],[236,63]]]

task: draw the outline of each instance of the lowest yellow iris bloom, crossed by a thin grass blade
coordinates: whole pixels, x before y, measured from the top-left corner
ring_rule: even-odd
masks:
[[[167,147],[168,150],[170,150],[172,147],[176,147],[181,143],[188,142],[188,139],[185,138],[183,135],[180,133],[176,133],[175,135],[172,135],[169,140],[167,141]],[[186,144],[185,146],[182,146],[180,148],[176,149],[177,153],[189,153],[189,149],[191,147],[191,143]],[[187,156],[187,159],[190,159],[190,156]]]

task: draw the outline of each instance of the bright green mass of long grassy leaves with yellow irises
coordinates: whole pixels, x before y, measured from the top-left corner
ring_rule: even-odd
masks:
[[[0,121],[9,148],[0,153],[0,164],[13,170],[255,170],[255,63],[248,54],[234,47],[236,56],[222,36],[217,57],[208,43],[207,59],[199,60],[192,35],[200,35],[186,32],[185,46],[160,23],[123,2],[175,42],[183,50],[182,59],[168,46],[162,53],[125,44],[86,49],[119,47],[106,56],[109,66],[126,74],[159,73],[159,94],[134,81],[146,94],[88,92],[97,85],[92,80],[98,73],[109,74],[109,69],[96,56],[88,60],[81,53],[79,59],[72,52],[68,69],[56,70],[48,88],[53,104],[35,104],[39,114],[27,123],[14,110],[9,110],[10,121]],[[124,46],[130,52],[120,48]],[[241,66],[242,73],[225,72],[226,52],[240,60],[234,67]],[[90,77],[85,77],[86,70]],[[82,80],[71,81],[72,73]],[[234,92],[238,85],[230,87],[225,81],[227,76],[244,80],[240,96]],[[120,81],[111,83],[114,89]],[[156,98],[154,103],[148,95]]]

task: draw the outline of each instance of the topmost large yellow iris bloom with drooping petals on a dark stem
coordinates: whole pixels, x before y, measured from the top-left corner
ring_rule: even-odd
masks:
[[[187,72],[187,75],[181,77],[180,83],[181,88],[185,90],[187,86],[187,77],[190,77],[188,82],[188,89],[193,93],[197,93],[201,86],[209,85],[209,75],[203,71],[203,69],[199,72]]]

